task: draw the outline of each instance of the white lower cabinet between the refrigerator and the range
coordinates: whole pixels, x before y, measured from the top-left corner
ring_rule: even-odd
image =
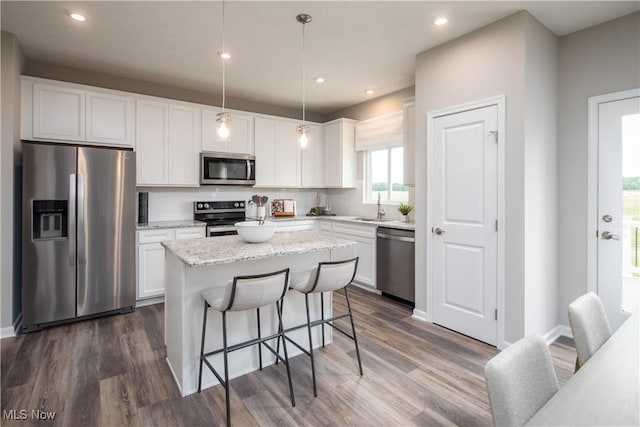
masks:
[[[205,237],[205,227],[137,231],[136,299],[142,300],[164,295],[164,246],[161,245],[161,242],[198,237]]]

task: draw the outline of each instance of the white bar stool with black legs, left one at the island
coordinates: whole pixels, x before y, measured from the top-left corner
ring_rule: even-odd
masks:
[[[227,426],[231,425],[231,407],[229,404],[229,360],[228,354],[235,350],[240,350],[255,344],[258,344],[258,355],[260,360],[260,370],[262,370],[262,345],[268,348],[275,356],[276,362],[282,361],[287,367],[287,377],[289,378],[289,393],[291,394],[291,406],[296,406],[293,396],[293,384],[291,382],[291,371],[289,370],[289,357],[287,355],[287,347],[283,345],[284,358],[280,356],[280,338],[284,337],[282,327],[282,299],[288,289],[289,269],[276,271],[274,273],[259,274],[255,276],[236,276],[233,281],[226,286],[209,288],[202,291],[201,295],[204,299],[204,320],[202,323],[202,344],[200,347],[200,372],[198,374],[198,393],[202,389],[202,365],[207,367],[218,378],[220,384],[225,389],[225,400],[227,409]],[[278,313],[278,332],[267,337],[262,337],[260,332],[260,307],[269,304],[276,305]],[[207,311],[213,308],[222,313],[222,342],[223,347],[204,352],[204,343],[207,330]],[[245,311],[256,310],[258,318],[258,338],[244,341],[238,344],[229,345],[227,343],[227,312],[229,311]],[[278,339],[278,349],[274,350],[267,341]],[[284,341],[283,341],[284,343]],[[209,363],[207,357],[214,354],[224,354],[224,378]]]

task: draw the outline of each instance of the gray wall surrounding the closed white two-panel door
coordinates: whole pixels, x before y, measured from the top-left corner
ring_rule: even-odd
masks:
[[[527,13],[481,28],[416,58],[416,309],[427,311],[427,113],[506,96],[506,331],[524,333],[524,118]]]

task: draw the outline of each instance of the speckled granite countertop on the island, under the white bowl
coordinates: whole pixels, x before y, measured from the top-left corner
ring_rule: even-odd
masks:
[[[203,237],[162,242],[167,250],[190,267],[229,264],[355,245],[352,240],[326,236],[316,231],[275,233],[264,243],[246,243],[240,236]]]

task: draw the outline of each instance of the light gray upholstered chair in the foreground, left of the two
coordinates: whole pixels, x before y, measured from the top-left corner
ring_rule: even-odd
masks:
[[[558,391],[549,348],[529,335],[496,355],[484,368],[495,426],[521,426]]]

